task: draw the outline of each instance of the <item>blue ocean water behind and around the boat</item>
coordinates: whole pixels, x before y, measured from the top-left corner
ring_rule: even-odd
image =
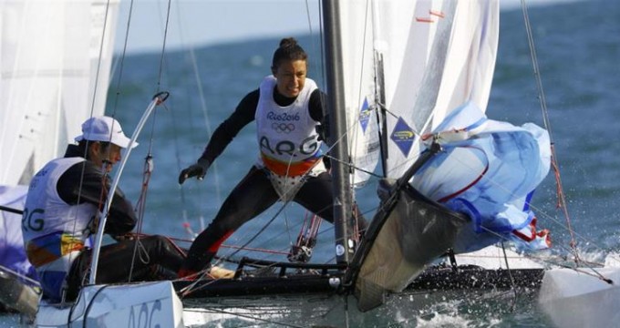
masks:
[[[604,253],[620,252],[620,214],[616,210],[620,203],[620,3],[583,1],[531,7],[529,14],[571,224],[581,236],[578,247],[586,258],[600,260]],[[318,38],[296,37],[310,54],[309,76],[324,86]],[[487,114],[515,125],[533,122],[542,126],[526,37],[521,10],[502,11],[499,54]],[[212,130],[269,74],[278,42],[279,38],[267,38],[208,46],[194,49],[193,53],[174,51],[163,59],[159,53],[126,56],[122,71],[117,66],[107,114],[119,118],[126,132],[133,130],[158,90],[171,93],[165,106],[157,108],[145,126],[140,147],[130,154],[120,183],[130,199],[138,200],[144,159],[152,156],[154,169],[143,232],[189,239],[184,223],[200,231],[253,164],[258,149],[252,125],[233,140],[206,179],[191,179],[182,187],[177,183],[179,171],[200,156]],[[164,64],[162,68],[160,63]],[[539,226],[552,231],[553,243],[567,247],[570,237],[564,228],[563,211],[556,208],[556,194],[554,175],[550,173],[536,191],[533,206]],[[371,216],[377,206],[372,184],[356,191],[356,199]],[[227,244],[247,241],[280,206],[274,205],[243,226]],[[250,246],[287,251],[304,216],[305,211],[298,206],[287,207],[284,218],[274,220]],[[333,229],[326,223],[314,259],[328,261],[333,253]],[[265,258],[281,260],[282,256]],[[551,326],[531,302],[511,311],[496,311],[488,303],[451,303],[464,298],[467,295],[446,300],[446,306],[432,313],[419,313],[416,318],[379,319],[370,326],[384,327],[387,322],[389,326],[403,327]],[[15,315],[0,317],[0,326],[19,325]]]

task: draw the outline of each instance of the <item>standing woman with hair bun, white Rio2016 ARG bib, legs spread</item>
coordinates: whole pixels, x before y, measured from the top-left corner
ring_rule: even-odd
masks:
[[[333,222],[332,178],[321,157],[316,132],[324,119],[325,94],[306,77],[307,55],[294,38],[284,38],[274,52],[273,75],[248,93],[230,118],[215,130],[197,162],[181,170],[179,183],[202,179],[215,160],[247,124],[256,121],[260,157],[222,204],[206,230],[191,244],[180,276],[200,272],[243,223],[277,200],[293,200]],[[358,216],[358,229],[366,223]]]

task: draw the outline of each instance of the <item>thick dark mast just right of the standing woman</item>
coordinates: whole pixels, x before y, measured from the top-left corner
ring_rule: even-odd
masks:
[[[342,49],[340,37],[340,6],[338,1],[323,2],[325,25],[325,69],[328,95],[330,151],[337,160],[332,161],[331,174],[334,179],[334,230],[336,234],[336,261],[348,263],[355,251],[350,238],[353,231],[352,195],[348,173],[348,142],[346,139],[345,91],[343,84]]]

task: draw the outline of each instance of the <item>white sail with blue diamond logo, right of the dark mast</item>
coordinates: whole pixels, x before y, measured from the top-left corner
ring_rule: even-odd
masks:
[[[486,108],[499,4],[387,0],[343,5],[350,7],[342,10],[347,109],[353,108],[351,120],[356,120],[365,99],[375,104],[370,96],[378,92],[368,91],[367,85],[374,82],[375,69],[382,71],[384,85],[378,87],[387,108],[387,176],[398,178],[418,157],[417,136],[436,128],[468,100]],[[352,148],[362,144],[359,133],[351,135]],[[360,157],[352,152],[352,158]]]

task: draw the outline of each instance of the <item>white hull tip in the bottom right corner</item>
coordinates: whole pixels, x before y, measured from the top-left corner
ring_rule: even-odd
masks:
[[[558,327],[615,327],[620,323],[620,268],[548,270],[539,304]]]

